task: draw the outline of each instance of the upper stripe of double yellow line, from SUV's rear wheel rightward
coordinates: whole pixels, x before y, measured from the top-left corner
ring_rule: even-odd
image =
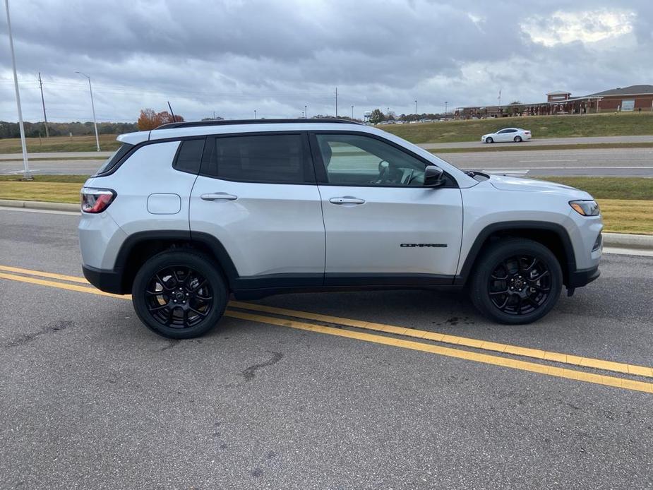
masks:
[[[383,323],[352,320],[350,318],[340,318],[339,316],[321,315],[319,313],[308,313],[306,311],[276,308],[275,306],[244,303],[242,301],[229,301],[229,306],[244,308],[248,310],[264,311],[265,313],[275,313],[277,315],[294,316],[296,318],[305,318],[306,320],[336,323],[339,325],[346,325],[348,327],[361,328],[363,330],[394,333],[396,335],[404,335],[405,337],[433,340],[435,342],[443,342],[445,344],[474,347],[477,349],[489,350],[493,352],[501,352],[503,354],[514,354],[521,357],[532,357],[534,359],[560,362],[562,364],[571,364],[573,366],[591,367],[594,369],[603,369],[604,371],[613,371],[616,373],[633,374],[635,376],[647,376],[649,378],[653,378],[653,368],[648,366],[638,366],[636,364],[624,364],[621,362],[593,359],[592,357],[561,354],[560,352],[529,349],[527,347],[518,347],[517,345],[500,344],[498,342],[486,342],[484,340],[472,339],[469,337],[458,337],[456,335],[446,335],[443,333],[429,332],[426,330],[415,330],[413,328],[397,327],[395,325],[385,325]]]

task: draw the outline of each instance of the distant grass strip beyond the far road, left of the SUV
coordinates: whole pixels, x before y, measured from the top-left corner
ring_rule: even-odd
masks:
[[[114,151],[120,146],[116,134],[100,135],[100,150]],[[95,151],[95,135],[92,136],[50,136],[49,138],[25,138],[28,153],[44,153],[56,151]],[[20,138],[0,139],[0,153],[21,153]]]

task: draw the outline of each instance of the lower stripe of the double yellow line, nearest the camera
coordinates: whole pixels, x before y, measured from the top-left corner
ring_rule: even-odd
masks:
[[[55,282],[55,281],[48,281],[48,280],[42,280],[42,279],[37,279],[35,277],[25,277],[21,275],[13,275],[13,274],[6,274],[6,273],[0,273],[0,279],[8,279],[8,280],[15,280],[19,282],[27,282],[29,284],[34,284],[34,285],[41,285],[41,286],[48,286],[48,287],[56,287],[58,289],[66,289],[69,291],[76,291],[76,292],[85,292],[89,294],[97,294],[100,296],[107,296],[107,297],[113,297],[113,298],[118,298],[118,299],[131,299],[129,296],[121,296],[119,294],[109,294],[106,292],[102,292],[99,289],[95,289],[93,287],[85,287],[85,286],[78,286],[78,285],[71,285],[71,284],[66,284],[64,282]],[[230,304],[232,306],[237,306],[237,307],[251,307],[251,306],[257,306],[260,307],[259,309],[263,309],[262,305],[253,305],[249,303],[241,303],[239,301],[231,301]],[[241,306],[243,305],[243,306]],[[266,309],[272,308],[271,306],[265,306]],[[292,311],[292,310],[285,310],[285,309],[275,309],[275,310],[280,310],[280,311]],[[279,313],[279,311],[276,311],[276,313]],[[297,313],[297,312],[294,312]],[[304,313],[304,312],[300,312]],[[335,319],[337,317],[329,317],[329,316],[323,316],[323,315],[318,315],[318,313],[306,313],[306,315],[313,315],[313,316],[320,316],[323,318],[331,318]],[[602,374],[592,374],[592,373],[585,373],[583,371],[576,371],[573,369],[565,369],[565,368],[558,368],[558,367],[553,367],[553,366],[546,366],[545,364],[537,364],[534,362],[529,362],[529,361],[520,361],[517,359],[509,359],[506,357],[499,357],[499,356],[493,356],[490,354],[482,354],[479,352],[471,352],[467,350],[462,350],[462,349],[454,349],[451,347],[441,347],[439,345],[433,345],[433,344],[426,344],[422,342],[415,342],[413,340],[403,340],[403,339],[397,339],[395,337],[385,337],[383,335],[373,335],[370,333],[363,333],[363,332],[356,332],[352,330],[343,330],[342,328],[333,328],[333,327],[327,327],[324,325],[315,325],[313,323],[304,323],[304,322],[299,322],[299,321],[294,321],[294,320],[285,320],[283,318],[276,318],[276,317],[271,317],[271,316],[262,316],[258,314],[252,314],[252,313],[246,313],[243,311],[234,311],[234,310],[227,310],[224,312],[224,316],[229,316],[232,318],[239,318],[242,320],[249,320],[249,321],[256,321],[259,323],[268,323],[270,325],[279,325],[279,326],[284,326],[284,327],[289,327],[289,328],[296,328],[299,330],[308,330],[311,332],[316,332],[316,333],[325,333],[328,335],[336,335],[338,337],[347,337],[347,338],[352,338],[352,339],[357,339],[357,340],[364,340],[366,342],[374,342],[377,344],[381,345],[390,345],[394,347],[402,347],[405,349],[412,349],[412,350],[417,350],[421,352],[430,352],[432,354],[439,354],[443,355],[445,357],[454,357],[456,359],[466,359],[469,361],[476,361],[480,362],[483,364],[492,364],[494,366],[502,366],[502,367],[508,367],[511,369],[518,369],[520,371],[529,371],[532,373],[538,373],[538,374],[546,374],[548,376],[555,376],[558,378],[567,378],[567,379],[573,379],[576,381],[585,381],[586,383],[594,383],[594,384],[599,384],[599,385],[604,385],[604,386],[613,386],[616,388],[624,388],[626,390],[635,390],[635,391],[641,391],[644,393],[653,393],[653,383],[644,383],[642,381],[633,381],[629,379],[623,379],[623,378],[615,378],[613,376],[604,376]],[[323,319],[322,318],[322,319]],[[317,318],[311,318],[311,319],[317,319]],[[342,318],[342,320],[347,320],[346,318]],[[336,323],[336,322],[329,322],[329,323]],[[352,323],[369,323],[369,322],[357,322],[357,321],[352,321]],[[342,323],[345,324],[345,323]],[[354,325],[350,325],[354,326]],[[392,331],[393,329],[401,329],[401,327],[393,327],[393,325],[385,325],[386,327],[392,327],[388,330],[389,333],[396,333],[396,331]],[[359,328],[361,328],[359,326]],[[404,330],[411,330],[411,329],[404,329]],[[381,331],[386,331],[386,330],[381,330]],[[421,337],[425,338],[426,337]],[[434,339],[427,339],[427,340],[434,340]],[[459,344],[460,345],[460,344]],[[505,351],[504,351],[505,352]],[[517,354],[519,355],[519,354]],[[582,359],[582,358],[581,358]],[[547,359],[544,359],[547,360]],[[599,359],[595,359],[599,360]],[[606,361],[604,361],[606,362]],[[587,363],[585,364],[580,364],[583,366],[587,367],[592,367],[589,366]]]

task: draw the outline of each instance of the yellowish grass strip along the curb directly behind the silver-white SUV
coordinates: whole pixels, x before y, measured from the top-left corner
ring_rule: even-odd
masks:
[[[0,176],[0,199],[78,203],[85,175]],[[653,179],[626,177],[542,177],[583,189],[601,206],[606,232],[653,234]]]

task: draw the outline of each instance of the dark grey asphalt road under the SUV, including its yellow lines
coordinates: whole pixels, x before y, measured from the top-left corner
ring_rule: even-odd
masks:
[[[175,342],[80,282],[77,220],[0,211],[0,488],[652,484],[653,371],[619,370],[653,365],[653,258],[606,256],[534,325],[293,294]]]

